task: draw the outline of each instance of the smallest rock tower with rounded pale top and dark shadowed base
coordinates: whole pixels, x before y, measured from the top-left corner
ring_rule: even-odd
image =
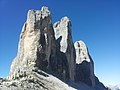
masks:
[[[74,44],[76,50],[76,81],[95,87],[94,64],[83,41]]]

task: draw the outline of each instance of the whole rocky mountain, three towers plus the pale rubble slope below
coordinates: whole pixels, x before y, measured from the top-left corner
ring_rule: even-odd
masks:
[[[0,90],[107,90],[94,74],[87,46],[73,43],[71,31],[68,17],[52,25],[48,7],[29,10]]]

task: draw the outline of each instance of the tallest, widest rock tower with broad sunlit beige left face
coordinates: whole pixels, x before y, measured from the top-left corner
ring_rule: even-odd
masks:
[[[51,52],[55,53],[55,46],[48,8],[29,10],[20,35],[18,54],[11,65],[9,79],[24,75],[26,73],[24,71],[29,68],[37,67],[41,70],[49,68],[49,58]]]

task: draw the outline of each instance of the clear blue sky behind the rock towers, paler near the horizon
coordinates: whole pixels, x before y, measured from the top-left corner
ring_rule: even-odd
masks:
[[[95,74],[104,84],[120,83],[120,0],[0,0],[0,76],[9,73],[29,9],[48,6],[53,23],[72,22],[73,41],[83,40]]]

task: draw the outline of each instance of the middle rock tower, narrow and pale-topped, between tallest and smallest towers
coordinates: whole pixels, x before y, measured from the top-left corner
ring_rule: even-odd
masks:
[[[64,59],[62,62],[68,63],[65,65],[68,67],[69,77],[71,80],[74,80],[75,72],[75,49],[72,41],[71,35],[71,22],[68,17],[64,17],[61,21],[58,21],[54,24],[55,38],[57,41],[57,52],[62,53],[60,55],[61,59]],[[58,56],[58,55],[57,55]]]

